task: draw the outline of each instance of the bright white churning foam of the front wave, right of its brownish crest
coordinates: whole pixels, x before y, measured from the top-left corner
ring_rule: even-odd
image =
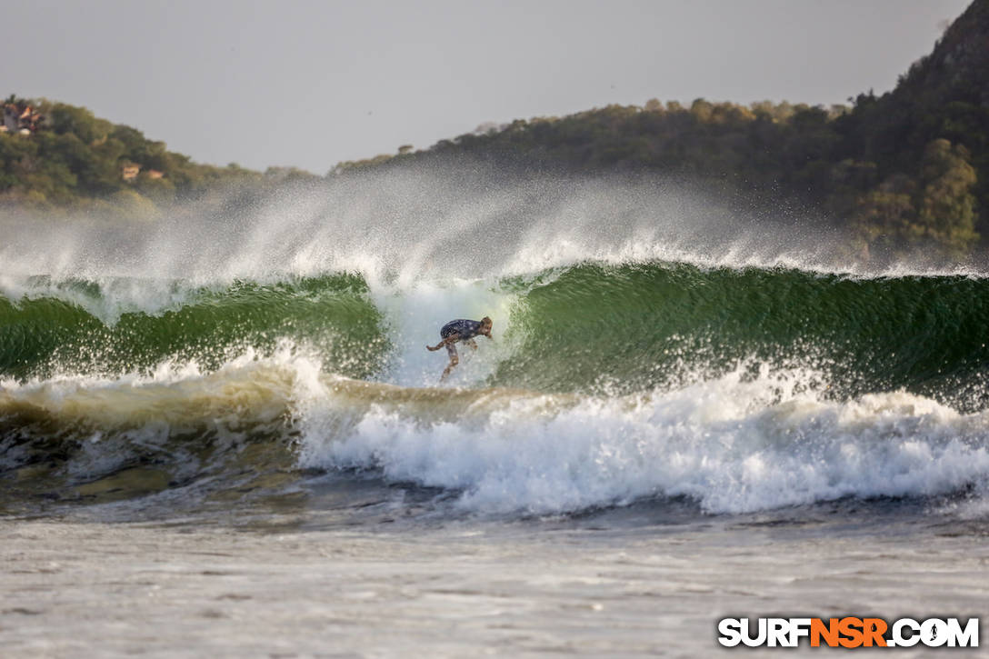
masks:
[[[986,488],[984,415],[902,392],[822,401],[791,393],[799,378],[779,375],[746,382],[739,371],[669,393],[566,405],[533,394],[429,421],[378,404],[342,431],[315,415],[304,424],[301,460],[462,490],[464,508],[486,513],[559,513],[651,496],[743,513]]]

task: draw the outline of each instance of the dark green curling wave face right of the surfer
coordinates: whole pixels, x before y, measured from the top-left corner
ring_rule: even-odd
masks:
[[[953,399],[989,363],[987,302],[989,282],[966,277],[583,265],[519,300],[510,331],[522,347],[494,380],[651,389],[747,359],[813,368],[846,396],[907,388]]]

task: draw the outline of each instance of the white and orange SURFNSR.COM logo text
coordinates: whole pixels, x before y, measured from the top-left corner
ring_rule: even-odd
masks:
[[[726,617],[718,633],[725,647],[797,647],[804,638],[811,647],[978,647],[979,618]]]

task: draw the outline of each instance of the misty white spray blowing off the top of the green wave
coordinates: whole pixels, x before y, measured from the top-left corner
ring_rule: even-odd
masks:
[[[392,281],[405,289],[582,261],[656,260],[861,276],[977,273],[955,264],[870,270],[850,258],[847,236],[834,228],[807,217],[742,214],[670,180],[520,179],[472,163],[338,177],[246,207],[234,201],[176,207],[152,226],[0,218],[0,282],[142,280],[167,292],[175,281],[225,289],[237,280],[349,272],[372,288]],[[130,298],[144,312],[153,300],[149,289]],[[171,301],[165,295],[159,304]]]

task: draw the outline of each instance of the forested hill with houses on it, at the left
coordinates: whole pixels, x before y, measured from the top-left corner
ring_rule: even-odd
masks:
[[[153,219],[173,204],[230,186],[256,192],[315,178],[292,168],[262,174],[233,163],[199,164],[163,141],[65,103],[11,95],[0,106],[0,210]]]

